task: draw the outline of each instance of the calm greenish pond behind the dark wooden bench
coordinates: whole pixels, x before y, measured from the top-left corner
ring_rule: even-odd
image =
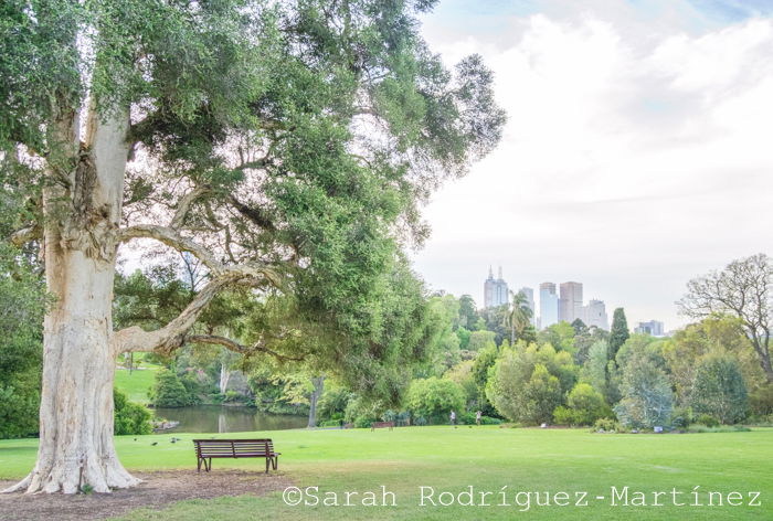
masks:
[[[157,418],[180,422],[165,433],[243,433],[250,430],[279,430],[303,428],[307,416],[263,413],[254,407],[195,405],[191,407],[158,407]]]

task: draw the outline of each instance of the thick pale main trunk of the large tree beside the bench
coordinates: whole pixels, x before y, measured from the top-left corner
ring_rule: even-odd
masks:
[[[72,124],[77,128],[77,119]],[[140,482],[113,444],[113,280],[127,161],[126,115],[92,111],[67,189],[44,194],[45,276],[55,297],[44,321],[40,446],[32,472],[8,491],[96,492]],[[70,139],[77,142],[76,130]]]

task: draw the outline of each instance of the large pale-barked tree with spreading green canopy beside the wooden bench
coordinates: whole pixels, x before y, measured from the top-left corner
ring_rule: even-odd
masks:
[[[113,445],[116,357],[191,340],[274,353],[282,337],[191,339],[223,291],[292,297],[340,333],[331,363],[363,379],[369,361],[416,349],[419,308],[391,289],[415,289],[400,249],[425,236],[422,201],[491,150],[505,119],[477,56],[449,72],[420,38],[433,3],[2,3],[2,188],[28,196],[12,241],[39,246],[55,298],[38,461],[14,489],[136,485]],[[162,327],[114,331],[116,258],[135,240],[193,255],[207,281]]]

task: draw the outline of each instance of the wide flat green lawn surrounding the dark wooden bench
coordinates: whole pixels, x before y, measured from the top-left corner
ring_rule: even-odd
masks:
[[[459,428],[412,427],[393,432],[353,430],[276,430],[240,433],[218,437],[271,436],[282,451],[279,470],[299,487],[319,487],[338,492],[379,491],[380,486],[394,492],[396,507],[290,507],[279,493],[263,498],[239,497],[193,500],[162,511],[135,511],[127,520],[210,520],[255,519],[773,519],[773,429],[746,433],[690,435],[599,435],[580,429],[509,429],[497,427]],[[182,442],[171,444],[171,435],[117,438],[118,453],[129,469],[195,469],[190,439],[202,435],[177,435]],[[202,436],[203,437],[203,436]],[[152,442],[158,445],[152,446]],[[34,439],[0,442],[0,478],[20,478],[32,466]],[[215,460],[218,468],[253,468],[262,471],[262,460]],[[443,491],[454,493],[474,487],[493,492],[490,507],[420,507],[420,487],[434,487],[434,498]],[[611,487],[647,492],[648,504],[655,491],[667,491],[665,506],[612,507]],[[691,502],[693,487],[699,491],[727,493],[761,492],[761,507],[675,507],[671,489],[684,493],[679,502]],[[498,506],[500,491],[507,487],[511,507]],[[517,491],[555,495],[568,492],[566,507],[537,506],[531,497],[528,511],[516,504]],[[575,507],[575,492],[587,492],[587,506]],[[603,496],[604,500],[595,497]],[[362,496],[360,496],[361,498]],[[379,492],[378,498],[381,498]],[[526,502],[521,495],[520,502]],[[444,497],[448,499],[448,495]],[[462,498],[463,500],[466,498]],[[352,496],[351,502],[358,498]],[[717,501],[717,498],[714,498]],[[702,493],[700,501],[708,502]],[[620,502],[620,501],[618,501]]]

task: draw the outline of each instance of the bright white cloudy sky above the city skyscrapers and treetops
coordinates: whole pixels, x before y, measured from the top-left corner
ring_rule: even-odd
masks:
[[[433,289],[483,305],[501,265],[673,329],[689,278],[773,253],[773,2],[441,0],[422,20],[448,64],[484,56],[509,116],[424,211]]]

